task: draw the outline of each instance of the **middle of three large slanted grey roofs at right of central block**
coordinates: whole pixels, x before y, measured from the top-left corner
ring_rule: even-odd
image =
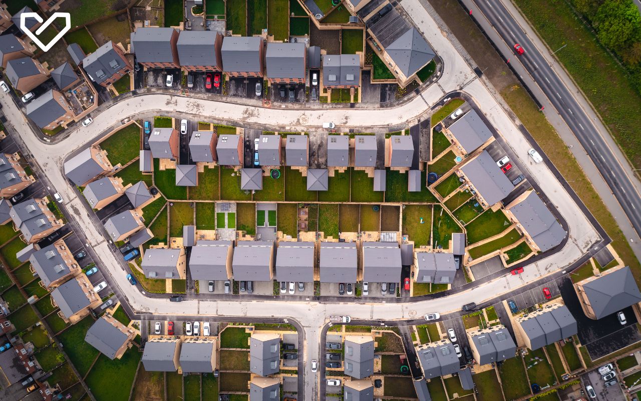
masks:
[[[467,162],[465,166],[461,167],[461,171],[472,182],[476,191],[483,196],[488,205],[494,205],[501,201],[514,189],[514,185],[496,165],[487,150]]]

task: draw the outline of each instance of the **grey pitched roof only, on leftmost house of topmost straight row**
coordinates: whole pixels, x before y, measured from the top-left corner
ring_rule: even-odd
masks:
[[[172,63],[174,28],[138,28],[132,35],[136,59],[141,63]]]

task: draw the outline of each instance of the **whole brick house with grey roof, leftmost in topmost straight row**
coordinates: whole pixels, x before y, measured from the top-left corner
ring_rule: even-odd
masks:
[[[179,68],[177,44],[174,28],[138,28],[131,34],[131,52],[147,68]]]

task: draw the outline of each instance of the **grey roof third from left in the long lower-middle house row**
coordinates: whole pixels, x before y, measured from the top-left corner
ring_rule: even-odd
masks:
[[[235,280],[271,281],[272,241],[238,241],[232,269]]]

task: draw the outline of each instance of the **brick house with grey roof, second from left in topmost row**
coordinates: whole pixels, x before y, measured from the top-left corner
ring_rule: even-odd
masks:
[[[181,31],[178,59],[187,71],[222,71],[222,35],[216,31]]]

